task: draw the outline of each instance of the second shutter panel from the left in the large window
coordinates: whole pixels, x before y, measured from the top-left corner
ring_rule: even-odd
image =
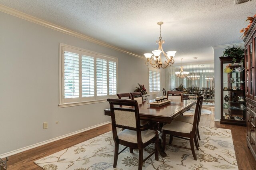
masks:
[[[94,96],[94,57],[82,55],[82,97]]]

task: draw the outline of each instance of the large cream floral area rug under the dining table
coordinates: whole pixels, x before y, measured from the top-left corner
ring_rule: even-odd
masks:
[[[200,127],[200,148],[194,160],[191,150],[166,146],[167,156],[159,161],[154,156],[146,160],[146,170],[238,170],[231,130]],[[174,144],[189,147],[188,140],[175,138]],[[119,146],[122,150],[124,147]],[[144,158],[154,150],[151,144],[144,150]],[[136,170],[138,150],[131,154],[127,148],[118,156],[117,167],[113,168],[114,141],[112,131],[46,156],[35,163],[44,170]]]

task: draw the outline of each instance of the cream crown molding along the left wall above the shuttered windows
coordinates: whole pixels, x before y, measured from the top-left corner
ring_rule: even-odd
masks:
[[[0,4],[0,11],[1,12],[4,12],[6,14],[10,14],[12,16],[16,16],[18,18],[21,18],[21,19],[24,19],[24,20],[27,20],[29,22],[33,22],[35,24],[39,24],[41,26],[45,26],[47,28],[51,28],[53,30],[56,30],[56,31],[59,31],[59,32],[62,32],[62,33],[65,33],[65,34],[68,34],[70,36],[74,36],[74,37],[77,37],[77,38],[80,38],[82,40],[86,40],[88,42],[92,42],[92,43],[96,43],[98,45],[102,45],[104,47],[108,47],[108,48],[111,48],[111,49],[114,49],[116,51],[120,51],[120,52],[123,52],[123,53],[126,53],[126,54],[129,54],[129,55],[132,55],[134,57],[138,57],[140,59],[145,59],[145,57],[141,56],[141,55],[138,55],[136,53],[132,53],[130,51],[126,51],[124,49],[121,49],[121,48],[118,48],[114,45],[110,45],[108,43],[104,43],[102,41],[99,41],[99,40],[96,40],[94,38],[90,38],[88,36],[85,36],[83,34],[80,34],[80,33],[77,33],[77,32],[74,32],[72,30],[68,30],[66,28],[63,28],[61,26],[58,26],[58,25],[55,25],[55,24],[52,24],[50,22],[47,22],[47,21],[44,21],[44,20],[41,20],[39,18],[36,18],[36,17],[33,17],[33,16],[30,16],[28,14],[25,14],[23,12],[20,12],[20,11],[17,11],[17,10],[14,10],[12,8],[9,8],[7,6],[3,6]]]

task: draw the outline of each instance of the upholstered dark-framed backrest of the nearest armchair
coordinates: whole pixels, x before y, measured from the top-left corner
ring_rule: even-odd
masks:
[[[138,143],[142,143],[138,102],[123,99],[107,99],[107,101],[110,104],[113,137],[118,138],[116,128],[135,130]]]

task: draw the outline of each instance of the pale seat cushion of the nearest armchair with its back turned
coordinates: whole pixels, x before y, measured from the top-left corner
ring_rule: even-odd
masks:
[[[156,131],[154,130],[144,130],[141,132],[142,143],[148,142],[148,140],[156,136]],[[118,134],[118,138],[127,142],[138,143],[137,142],[137,132],[135,130],[124,129]]]

